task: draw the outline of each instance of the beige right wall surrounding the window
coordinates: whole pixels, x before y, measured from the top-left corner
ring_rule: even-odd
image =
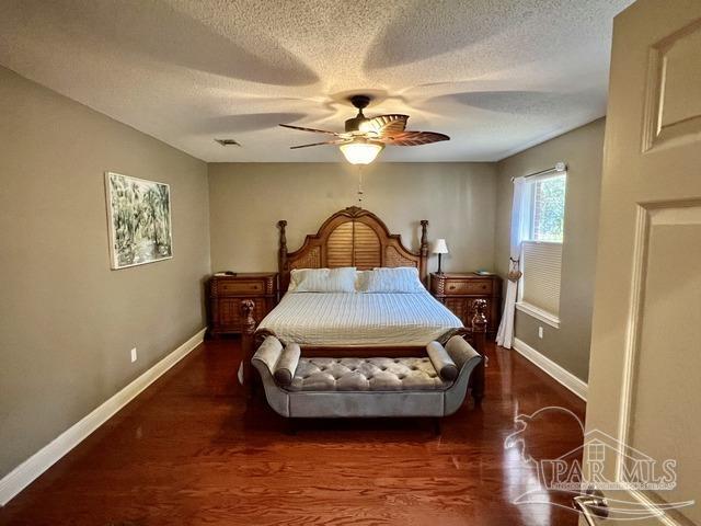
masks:
[[[510,179],[550,168],[556,161],[568,165],[560,329],[517,311],[516,338],[585,381],[589,367],[604,125],[604,118],[595,121],[497,164],[495,260],[502,276],[508,270],[514,187]],[[542,340],[538,338],[538,327],[543,328]]]

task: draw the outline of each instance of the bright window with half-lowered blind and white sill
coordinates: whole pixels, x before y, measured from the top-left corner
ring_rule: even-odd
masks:
[[[521,310],[560,327],[566,174],[526,180],[521,205]]]

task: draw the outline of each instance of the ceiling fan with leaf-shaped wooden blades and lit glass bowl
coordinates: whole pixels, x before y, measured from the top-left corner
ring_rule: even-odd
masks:
[[[334,138],[323,142],[292,146],[291,149],[309,148],[310,146],[337,145],[352,164],[369,164],[375,160],[386,145],[390,146],[421,146],[450,140],[450,137],[435,132],[407,132],[409,115],[390,114],[368,118],[363,110],[370,103],[368,95],[354,95],[350,103],[358,108],[358,114],[346,121],[344,133],[327,132],[325,129],[304,128],[280,124],[285,128],[301,129],[317,134],[332,135]]]

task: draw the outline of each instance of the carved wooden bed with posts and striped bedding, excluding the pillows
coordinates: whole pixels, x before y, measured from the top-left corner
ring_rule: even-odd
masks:
[[[416,294],[286,294],[290,273],[300,268],[415,267],[425,287],[428,277],[427,220],[415,225],[416,252],[407,249],[400,236],[390,233],[378,216],[356,206],[333,214],[294,252],[287,249],[287,221],[280,220],[277,226],[281,301],[263,320],[254,319],[253,300],[241,304],[242,379],[250,392],[253,387],[251,358],[268,335],[285,343],[300,344],[306,356],[333,353],[338,357],[399,357],[424,356],[429,341],[446,343],[459,334],[483,354],[486,305],[481,299],[474,300],[471,327],[463,327],[426,289]],[[471,388],[479,402],[484,392],[483,365],[474,370]]]

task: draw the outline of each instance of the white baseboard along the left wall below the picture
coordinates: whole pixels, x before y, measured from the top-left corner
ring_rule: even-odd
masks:
[[[50,468],[64,455],[84,441],[93,431],[110,420],[117,411],[136,398],[143,389],[158,380],[165,371],[189,354],[205,338],[206,329],[170,353],[119,392],[107,399],[90,414],[73,424],[50,443],[27,458],[0,480],[0,506],[30,485],[34,479]]]

